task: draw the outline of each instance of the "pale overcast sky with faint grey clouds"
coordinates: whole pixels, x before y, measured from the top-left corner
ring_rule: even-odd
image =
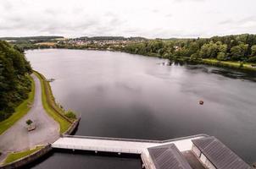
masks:
[[[1,0],[0,36],[256,34],[256,0]]]

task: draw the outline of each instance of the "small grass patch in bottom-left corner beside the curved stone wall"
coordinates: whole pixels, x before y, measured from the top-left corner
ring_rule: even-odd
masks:
[[[8,154],[8,156],[6,157],[6,159],[3,161],[3,165],[6,165],[8,163],[17,161],[27,155],[31,155],[34,152],[36,152],[37,150],[41,150],[43,146],[36,146],[36,148],[31,149],[31,150],[25,150],[25,151],[20,151],[20,152],[16,152],[16,153],[10,153]]]

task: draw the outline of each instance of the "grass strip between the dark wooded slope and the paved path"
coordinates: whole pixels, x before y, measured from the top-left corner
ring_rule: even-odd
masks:
[[[31,92],[29,93],[29,98],[25,101],[23,101],[19,106],[15,108],[15,112],[11,117],[8,117],[8,119],[4,120],[3,122],[0,122],[0,134],[3,134],[8,128],[10,128],[14,123],[16,123],[21,117],[23,117],[29,110],[31,109],[29,103],[32,103],[34,101],[35,96],[35,82],[30,77],[32,86],[31,86]]]

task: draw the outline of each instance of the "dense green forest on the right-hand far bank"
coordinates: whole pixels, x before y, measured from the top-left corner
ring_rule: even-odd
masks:
[[[165,58],[213,58],[256,63],[256,35],[227,35],[183,40],[153,40],[128,44],[123,51]]]

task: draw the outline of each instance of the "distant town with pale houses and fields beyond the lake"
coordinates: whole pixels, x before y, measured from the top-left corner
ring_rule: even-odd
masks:
[[[148,41],[143,37],[123,36],[82,36],[78,38],[64,38],[64,36],[28,36],[28,37],[3,37],[0,40],[8,41],[23,49],[51,48],[59,46],[88,46],[88,48],[116,46],[124,47],[126,44]],[[107,47],[108,48],[108,47]]]

